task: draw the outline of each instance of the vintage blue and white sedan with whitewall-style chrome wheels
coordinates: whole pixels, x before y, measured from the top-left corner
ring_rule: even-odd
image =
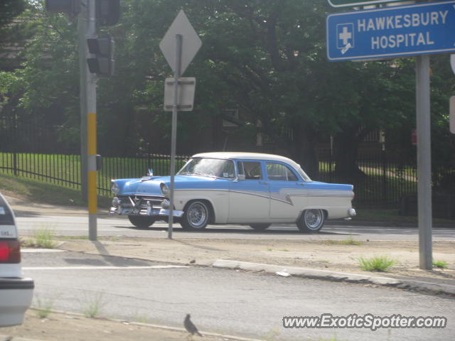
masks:
[[[168,220],[169,176],[112,180],[110,213],[137,227]],[[312,181],[283,156],[262,153],[200,153],[174,178],[173,217],[183,229],[208,224],[246,224],[267,229],[294,223],[317,232],[326,219],[352,217],[353,185]]]

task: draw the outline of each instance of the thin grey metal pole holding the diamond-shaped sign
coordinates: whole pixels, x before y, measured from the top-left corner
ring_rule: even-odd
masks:
[[[176,144],[177,144],[177,114],[178,114],[178,79],[181,75],[181,58],[182,58],[182,35],[176,34],[176,67],[173,73],[173,106],[172,106],[172,134],[171,134],[171,188],[169,201],[169,226],[168,239],[172,239],[173,224],[173,190],[174,190],[174,173],[176,173]]]

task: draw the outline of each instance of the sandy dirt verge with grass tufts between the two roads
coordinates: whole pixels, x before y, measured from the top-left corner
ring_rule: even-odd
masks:
[[[455,284],[455,242],[433,243],[434,259],[446,261],[449,266],[449,269],[433,271],[419,269],[418,242],[354,241],[360,244],[337,244],[342,242],[348,241],[116,238],[100,242],[72,240],[62,244],[60,249],[173,264],[210,266],[217,259],[228,259],[354,274],[371,274],[358,267],[360,257],[383,255],[395,259],[397,264],[379,275],[434,278]]]

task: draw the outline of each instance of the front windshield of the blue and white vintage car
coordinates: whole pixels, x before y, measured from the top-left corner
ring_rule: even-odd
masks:
[[[232,160],[219,158],[192,158],[177,173],[178,175],[203,175],[215,178],[235,178]]]

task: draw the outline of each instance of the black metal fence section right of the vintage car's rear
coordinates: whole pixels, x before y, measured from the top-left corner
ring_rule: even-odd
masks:
[[[360,152],[357,166],[361,173],[351,180],[338,178],[336,164],[328,155],[321,156],[319,165],[317,180],[354,185],[356,207],[398,209],[405,215],[417,212],[417,161],[414,158],[394,151]],[[434,217],[455,217],[451,212],[455,213],[455,168],[433,167],[432,193]],[[449,201],[454,205],[448,204]]]

